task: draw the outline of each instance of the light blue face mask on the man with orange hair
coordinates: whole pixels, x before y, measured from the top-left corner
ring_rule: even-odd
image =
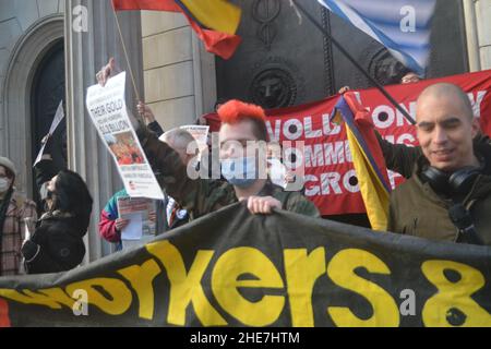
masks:
[[[258,180],[255,157],[223,159],[220,164],[221,174],[232,185],[248,188]]]

